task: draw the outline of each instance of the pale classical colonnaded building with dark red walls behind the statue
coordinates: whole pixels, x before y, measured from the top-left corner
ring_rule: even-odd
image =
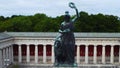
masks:
[[[0,33],[0,68],[10,64],[53,64],[52,32]],[[75,33],[78,64],[120,65],[120,33]]]

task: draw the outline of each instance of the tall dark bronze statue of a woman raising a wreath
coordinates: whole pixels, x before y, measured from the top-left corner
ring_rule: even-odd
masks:
[[[61,23],[59,36],[56,37],[55,47],[55,66],[76,66],[75,64],[75,37],[73,33],[74,22],[78,19],[79,13],[73,2],[69,7],[75,9],[76,16],[71,20],[69,12],[65,12],[64,22]]]

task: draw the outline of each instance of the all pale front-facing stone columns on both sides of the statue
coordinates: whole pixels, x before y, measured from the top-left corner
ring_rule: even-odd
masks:
[[[21,63],[22,62],[22,49],[21,49],[21,46],[22,45],[18,45],[18,62],[19,63]],[[30,62],[30,45],[26,45],[27,46],[27,48],[26,48],[26,62],[27,63],[29,63]],[[34,55],[34,62],[35,63],[38,63],[38,60],[39,60],[39,56],[38,56],[38,45],[34,45],[35,46],[35,55]],[[47,55],[46,55],[46,46],[47,45],[43,45],[43,56],[42,56],[42,62],[43,63],[47,63]],[[55,61],[55,57],[54,57],[54,46],[53,45],[51,45],[52,47],[52,50],[51,50],[51,62],[52,63],[54,63],[54,61]],[[80,58],[81,58],[81,55],[80,55],[80,46],[81,45],[77,45],[77,52],[76,52],[76,62],[77,63],[81,63],[81,61],[80,61]],[[102,55],[101,55],[101,63],[102,64],[106,64],[106,48],[105,48],[105,45],[101,45],[102,46]],[[111,48],[110,48],[110,63],[111,64],[113,64],[114,63],[114,46],[113,45],[110,45],[111,46]],[[94,48],[93,48],[93,56],[92,56],[92,58],[93,58],[93,61],[92,61],[92,63],[93,64],[97,64],[98,62],[97,62],[97,58],[98,58],[98,56],[97,56],[97,45],[94,45],[93,46]],[[119,56],[118,56],[118,63],[120,63],[120,46],[118,46],[119,47]],[[85,56],[84,56],[84,58],[85,58],[85,60],[84,60],[84,63],[85,64],[89,64],[89,45],[85,45]]]

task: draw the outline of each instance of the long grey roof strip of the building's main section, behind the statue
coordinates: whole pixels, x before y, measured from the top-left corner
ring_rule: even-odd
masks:
[[[13,37],[54,38],[58,35],[58,32],[5,32],[4,34]],[[74,34],[76,38],[120,38],[120,33],[74,33]]]

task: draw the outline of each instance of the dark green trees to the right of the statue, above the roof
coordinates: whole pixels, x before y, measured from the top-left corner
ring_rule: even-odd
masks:
[[[80,13],[80,18],[75,24],[77,32],[120,32],[120,20],[113,15],[88,15]],[[79,29],[78,29],[79,28]]]

